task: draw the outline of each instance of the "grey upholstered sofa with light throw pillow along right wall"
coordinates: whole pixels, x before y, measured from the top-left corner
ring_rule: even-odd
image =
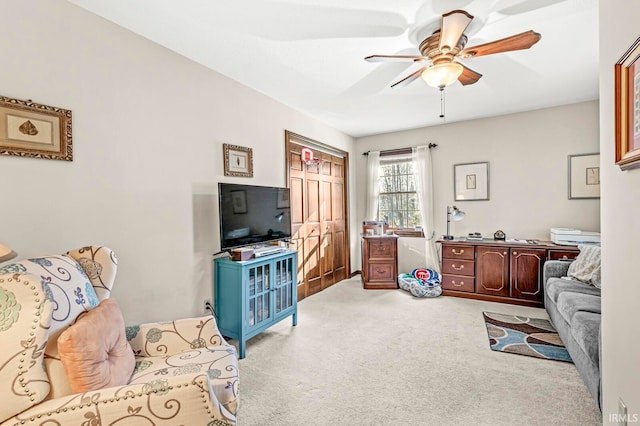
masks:
[[[589,392],[602,410],[600,247],[580,246],[574,262],[544,264],[544,306]]]

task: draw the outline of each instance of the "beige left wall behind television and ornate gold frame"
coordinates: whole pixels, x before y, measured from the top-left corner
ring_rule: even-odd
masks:
[[[353,152],[351,137],[66,1],[2,6],[0,94],[71,109],[74,161],[0,157],[0,240],[20,257],[113,248],[129,324],[203,312],[217,183],[285,185],[285,129]],[[223,143],[253,148],[253,179],[223,176]]]

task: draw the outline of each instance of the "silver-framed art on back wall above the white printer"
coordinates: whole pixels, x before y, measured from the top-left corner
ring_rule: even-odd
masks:
[[[600,198],[600,154],[570,155],[569,199]]]

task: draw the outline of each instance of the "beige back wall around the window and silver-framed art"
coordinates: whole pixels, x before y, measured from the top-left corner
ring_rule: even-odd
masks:
[[[432,150],[436,235],[446,232],[446,206],[453,203],[453,165],[489,162],[489,201],[457,201],[466,217],[452,234],[501,229],[507,238],[549,239],[549,228],[600,231],[599,200],[569,200],[567,156],[599,151],[598,102],[405,132],[356,141],[357,217],[364,217],[368,150],[438,144]]]

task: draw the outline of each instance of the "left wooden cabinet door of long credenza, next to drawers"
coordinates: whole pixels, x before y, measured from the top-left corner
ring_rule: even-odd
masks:
[[[509,249],[476,247],[476,292],[509,296]]]

